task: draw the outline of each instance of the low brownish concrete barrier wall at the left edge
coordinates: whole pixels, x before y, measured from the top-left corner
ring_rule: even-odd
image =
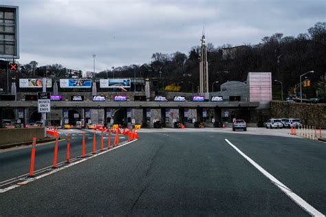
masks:
[[[31,142],[33,137],[43,139],[44,127],[0,129],[0,146]]]

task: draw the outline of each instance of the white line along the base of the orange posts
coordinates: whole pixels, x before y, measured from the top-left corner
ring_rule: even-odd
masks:
[[[83,159],[80,160],[80,161],[76,161],[76,162],[74,162],[74,163],[69,163],[69,164],[67,164],[67,165],[65,165],[65,166],[63,166],[63,167],[60,167],[60,168],[57,168],[57,169],[53,169],[52,171],[47,172],[47,173],[45,173],[45,174],[42,174],[41,176],[36,176],[35,178],[29,178],[28,180],[24,180],[23,183],[22,183],[22,185],[26,185],[26,184],[28,184],[28,183],[31,183],[31,182],[34,181],[34,180],[38,180],[38,179],[43,178],[43,177],[45,177],[45,176],[49,176],[49,175],[51,175],[51,174],[54,174],[55,172],[59,172],[59,171],[61,171],[61,170],[63,170],[63,169],[66,169],[66,168],[68,168],[68,167],[72,167],[72,166],[74,166],[74,165],[77,165],[77,164],[79,164],[79,163],[82,163],[82,162],[84,162],[84,161],[87,161],[87,160],[89,160],[89,159],[91,159],[91,158],[95,158],[96,156],[99,156],[99,155],[101,155],[101,154],[105,154],[105,153],[107,153],[107,152],[111,152],[111,151],[113,151],[114,149],[118,149],[118,148],[120,148],[120,147],[123,147],[124,145],[128,145],[129,143],[133,143],[133,142],[135,142],[135,141],[138,141],[138,139],[136,138],[136,139],[133,140],[133,141],[129,141],[129,142],[127,142],[127,143],[124,143],[124,144],[118,145],[117,147],[111,147],[110,149],[106,149],[106,150],[104,150],[104,151],[102,151],[102,152],[100,152],[100,151],[98,150],[99,152],[98,152],[97,154],[93,154],[93,152],[89,152],[89,153],[87,154],[87,158],[83,158]],[[92,155],[89,155],[89,154],[92,154]],[[64,163],[64,162],[61,162],[61,163]],[[4,192],[8,192],[9,190],[14,189],[14,188],[19,187],[19,186],[21,186],[21,185],[12,185],[12,186],[10,186],[10,187],[6,187],[6,188],[4,188],[4,189],[0,189],[0,194],[1,194],[1,193],[4,193]]]

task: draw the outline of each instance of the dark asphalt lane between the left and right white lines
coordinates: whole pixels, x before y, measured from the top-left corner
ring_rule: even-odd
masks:
[[[140,133],[135,143],[3,193],[3,214],[309,216],[225,136]]]

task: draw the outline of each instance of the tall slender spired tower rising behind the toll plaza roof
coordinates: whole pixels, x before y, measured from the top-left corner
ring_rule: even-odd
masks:
[[[205,31],[205,29],[204,29]],[[208,93],[208,63],[207,63],[207,51],[205,45],[205,32],[203,32],[201,43],[201,54],[199,63],[199,90],[200,93]]]

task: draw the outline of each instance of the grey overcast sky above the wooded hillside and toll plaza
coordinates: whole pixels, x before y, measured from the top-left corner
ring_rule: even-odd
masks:
[[[326,19],[325,0],[1,0],[19,6],[20,63],[96,72],[150,63],[154,52],[188,54],[206,41],[256,44],[296,37]]]

